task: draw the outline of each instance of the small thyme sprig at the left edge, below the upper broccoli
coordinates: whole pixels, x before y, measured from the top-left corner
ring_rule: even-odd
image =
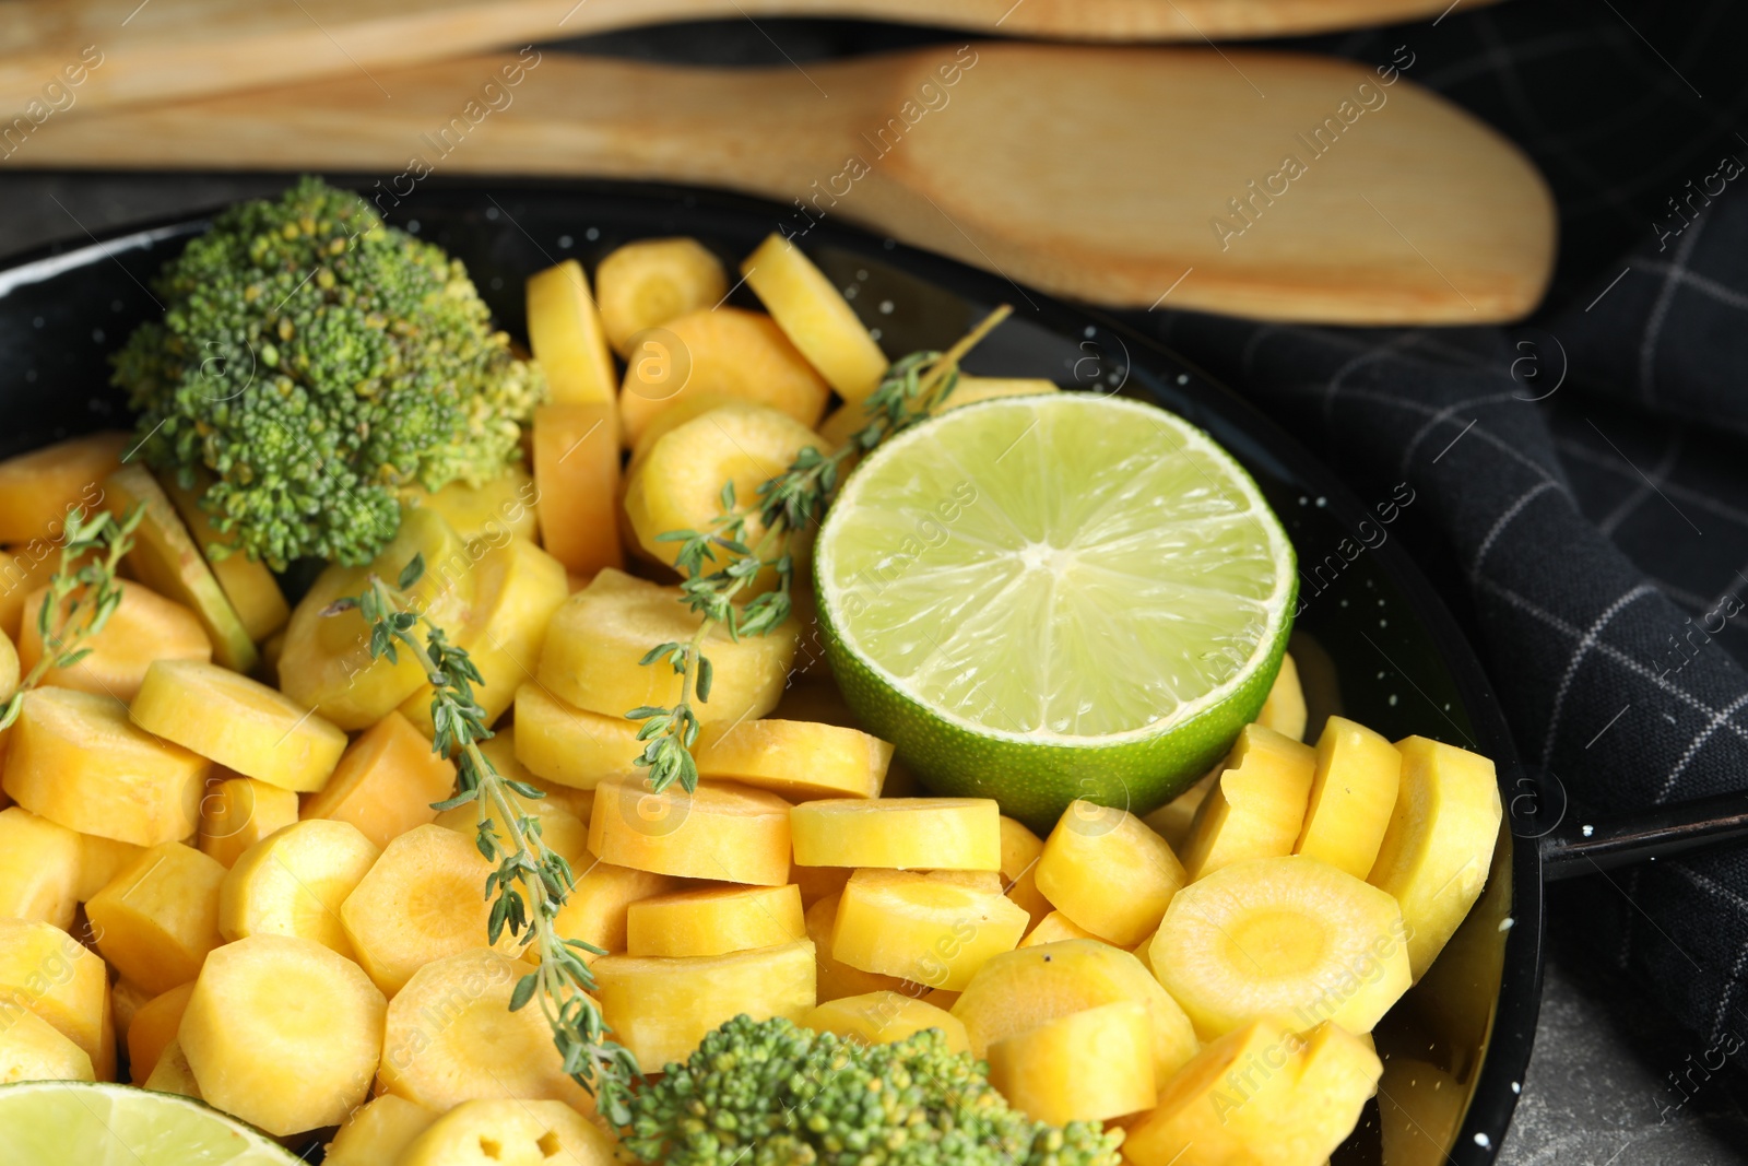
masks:
[[[17,692],[0,706],[0,729],[17,720],[24,694],[42,684],[54,668],[72,668],[91,656],[89,640],[103,631],[121,607],[117,580],[122,556],[133,551],[133,531],[140,528],[145,507],[135,505],[122,517],[108,510],[89,514],[73,507],[61,528],[61,561],[49,577],[49,593],[37,610],[42,657],[19,680]],[[79,563],[86,556],[94,556]],[[63,610],[65,605],[65,610]]]

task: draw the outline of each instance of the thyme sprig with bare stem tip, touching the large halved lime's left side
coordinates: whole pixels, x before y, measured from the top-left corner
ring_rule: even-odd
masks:
[[[626,717],[642,720],[638,739],[650,790],[661,792],[678,781],[697,788],[699,718],[696,704],[710,701],[713,668],[704,656],[704,640],[724,628],[731,640],[762,636],[778,628],[792,610],[797,538],[825,514],[837,493],[844,463],[860,458],[893,434],[928,420],[960,381],[960,360],[982,341],[1012,308],[1002,304],[946,351],[918,351],[904,357],[881,378],[864,402],[867,423],[837,449],[820,453],[804,448],[788,468],[759,484],[750,502],[734,495],[734,482],[724,482],[720,512],[706,530],[669,530],[657,542],[678,542],[675,570],[680,572],[680,601],[697,612],[697,631],[689,640],[657,643],[640,661],[645,666],[666,663],[680,677],[680,694],[671,706],[643,704]],[[755,535],[757,531],[757,535]],[[757,538],[757,540],[755,540]],[[736,598],[755,579],[769,572],[776,586],[745,605]]]

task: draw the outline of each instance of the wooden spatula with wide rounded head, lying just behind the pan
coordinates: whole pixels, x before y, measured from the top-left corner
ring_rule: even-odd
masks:
[[[1002,42],[703,70],[530,51],[372,73],[70,117],[24,149],[367,171],[385,208],[427,173],[724,185],[781,203],[787,234],[837,217],[1059,295],[1273,320],[1510,320],[1554,253],[1547,187],[1510,143],[1405,77],[1311,56]]]

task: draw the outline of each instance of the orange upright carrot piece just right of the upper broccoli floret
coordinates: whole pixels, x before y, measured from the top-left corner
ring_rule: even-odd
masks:
[[[535,409],[540,545],[565,570],[579,575],[624,565],[619,547],[619,435],[614,427],[612,402]]]

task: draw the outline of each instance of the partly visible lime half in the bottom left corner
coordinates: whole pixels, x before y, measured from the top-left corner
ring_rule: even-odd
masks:
[[[73,1080],[0,1086],[7,1166],[295,1166],[267,1135],[173,1093]]]

